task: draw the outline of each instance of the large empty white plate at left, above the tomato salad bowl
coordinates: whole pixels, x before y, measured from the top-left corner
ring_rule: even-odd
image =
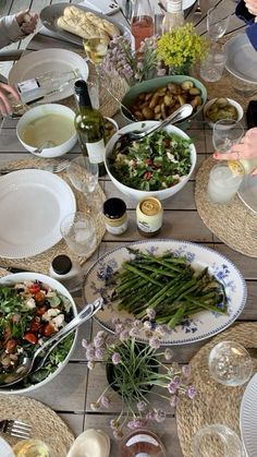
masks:
[[[19,170],[0,178],[0,256],[39,254],[61,240],[61,220],[75,212],[71,188],[44,170]]]

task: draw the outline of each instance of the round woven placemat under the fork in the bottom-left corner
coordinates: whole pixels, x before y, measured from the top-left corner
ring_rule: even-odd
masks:
[[[52,457],[65,457],[74,441],[71,430],[54,411],[28,397],[0,395],[0,420],[2,419],[16,419],[32,425],[30,437],[48,444]],[[8,434],[2,437],[11,446],[19,441]]]

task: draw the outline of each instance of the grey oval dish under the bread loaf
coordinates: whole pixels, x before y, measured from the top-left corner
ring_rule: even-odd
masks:
[[[188,0],[186,0],[188,1]],[[63,15],[64,8],[69,7],[69,3],[56,3],[50,4],[49,7],[46,7],[40,12],[40,20],[42,25],[45,25],[46,28],[48,28],[51,32],[54,32],[60,36],[60,38],[74,43],[75,45],[83,46],[83,39],[74,35],[70,32],[63,31],[61,27],[57,25],[57,20]],[[120,28],[122,35],[124,35],[126,38],[131,38],[131,32],[130,29],[121,24],[120,22],[115,21],[113,17],[107,16],[106,14],[101,14],[96,10],[91,10],[90,8],[84,7],[82,4],[74,5],[83,11],[89,11],[94,14],[96,14],[99,17],[102,17],[112,24],[114,24],[118,28]]]

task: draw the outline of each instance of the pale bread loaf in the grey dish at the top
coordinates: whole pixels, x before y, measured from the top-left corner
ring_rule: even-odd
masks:
[[[113,35],[121,34],[120,29],[111,22],[76,7],[64,8],[63,15],[58,19],[57,25],[82,38],[100,36],[109,41]]]

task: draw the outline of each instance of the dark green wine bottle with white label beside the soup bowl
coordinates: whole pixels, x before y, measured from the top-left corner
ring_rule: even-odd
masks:
[[[103,156],[106,152],[105,120],[99,111],[91,107],[87,83],[77,80],[74,85],[77,112],[74,119],[82,154],[98,164],[99,176],[106,175]]]

